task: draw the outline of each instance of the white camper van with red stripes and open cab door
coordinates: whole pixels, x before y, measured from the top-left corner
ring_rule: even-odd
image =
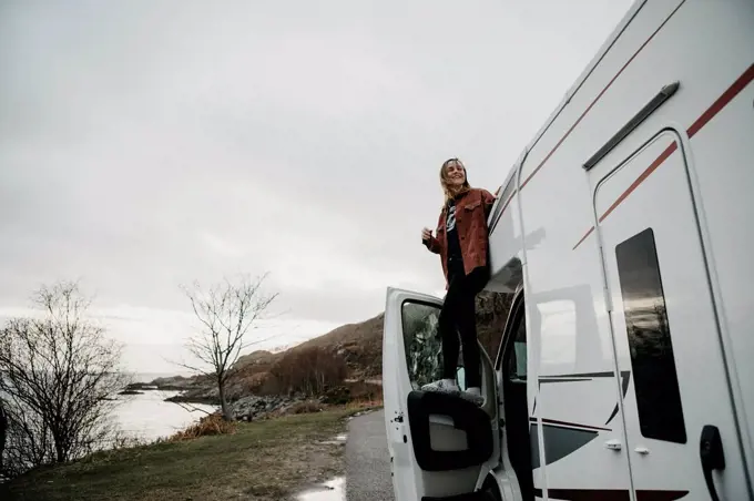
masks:
[[[754,499],[753,80],[754,1],[630,9],[490,214],[481,407],[420,391],[441,299],[388,290],[396,501]]]

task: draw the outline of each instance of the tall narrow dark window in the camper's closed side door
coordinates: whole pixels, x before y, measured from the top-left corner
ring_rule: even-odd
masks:
[[[619,244],[615,257],[641,432],[646,438],[685,443],[686,428],[652,228]]]

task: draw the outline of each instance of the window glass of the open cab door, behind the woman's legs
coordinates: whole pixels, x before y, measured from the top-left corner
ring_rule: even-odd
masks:
[[[400,309],[408,378],[416,390],[441,377],[442,344],[437,329],[440,308],[405,301]]]

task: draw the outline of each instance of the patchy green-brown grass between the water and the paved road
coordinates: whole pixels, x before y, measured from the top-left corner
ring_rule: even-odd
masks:
[[[370,407],[370,406],[369,406]],[[32,471],[3,500],[284,500],[343,472],[342,444],[322,444],[365,406],[238,422],[232,434],[100,452]]]

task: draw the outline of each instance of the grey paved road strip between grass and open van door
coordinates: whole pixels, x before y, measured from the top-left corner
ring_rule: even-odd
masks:
[[[348,423],[346,442],[346,500],[394,501],[390,456],[380,409]]]

